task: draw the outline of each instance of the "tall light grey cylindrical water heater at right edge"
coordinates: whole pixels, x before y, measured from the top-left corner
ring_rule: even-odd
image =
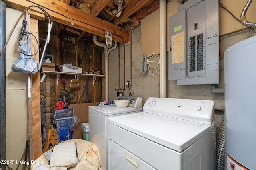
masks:
[[[225,51],[226,170],[256,170],[256,37]]]

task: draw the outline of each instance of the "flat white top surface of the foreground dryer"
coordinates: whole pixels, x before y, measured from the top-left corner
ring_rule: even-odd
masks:
[[[178,152],[215,127],[146,112],[111,117],[108,122]]]

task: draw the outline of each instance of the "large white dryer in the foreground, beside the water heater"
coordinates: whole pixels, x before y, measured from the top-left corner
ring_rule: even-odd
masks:
[[[215,170],[214,102],[148,98],[108,119],[109,170]]]

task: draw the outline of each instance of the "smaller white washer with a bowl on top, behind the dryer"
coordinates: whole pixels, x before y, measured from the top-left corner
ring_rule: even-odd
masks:
[[[89,141],[98,147],[102,170],[108,170],[108,118],[142,111],[142,98],[140,97],[118,96],[116,99],[130,100],[130,103],[125,108],[115,105],[89,106]]]

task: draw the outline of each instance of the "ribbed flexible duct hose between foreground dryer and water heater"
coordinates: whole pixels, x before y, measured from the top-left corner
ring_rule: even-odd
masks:
[[[220,123],[219,133],[216,139],[216,166],[217,170],[225,169],[225,115],[222,117],[222,121]]]

